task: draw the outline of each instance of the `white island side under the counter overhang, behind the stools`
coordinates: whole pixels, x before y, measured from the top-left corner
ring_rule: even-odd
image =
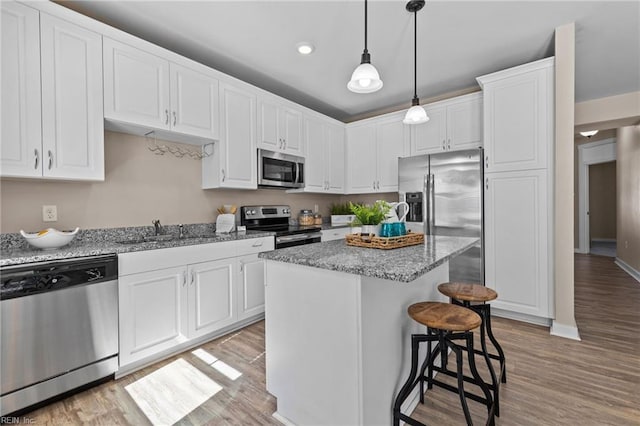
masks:
[[[411,369],[411,334],[426,332],[409,317],[407,308],[422,301],[446,302],[437,287],[448,279],[448,262],[410,283],[362,277],[364,425],[393,423],[393,402]],[[421,362],[426,353],[422,345]],[[403,406],[404,413],[413,411],[418,392],[416,387]]]

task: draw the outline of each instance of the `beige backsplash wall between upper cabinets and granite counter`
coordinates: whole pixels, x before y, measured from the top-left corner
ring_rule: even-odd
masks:
[[[105,181],[94,183],[28,179],[0,181],[0,231],[46,227],[112,228],[215,222],[222,204],[289,204],[297,213],[318,205],[329,215],[333,202],[376,199],[395,201],[397,194],[287,194],[283,190],[203,190],[200,161],[154,155],[145,138],[105,132]],[[58,207],[58,222],[42,222],[42,205]]]

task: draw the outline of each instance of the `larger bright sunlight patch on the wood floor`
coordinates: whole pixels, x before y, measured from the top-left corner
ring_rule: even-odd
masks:
[[[136,380],[125,389],[154,425],[171,425],[222,390],[184,359]]]

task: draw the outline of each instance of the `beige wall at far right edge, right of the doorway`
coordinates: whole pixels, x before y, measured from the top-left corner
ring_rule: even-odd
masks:
[[[618,129],[617,256],[640,271],[640,126]]]

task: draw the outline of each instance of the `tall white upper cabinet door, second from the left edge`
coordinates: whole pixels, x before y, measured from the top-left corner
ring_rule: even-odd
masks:
[[[104,180],[102,37],[40,16],[43,176]]]

